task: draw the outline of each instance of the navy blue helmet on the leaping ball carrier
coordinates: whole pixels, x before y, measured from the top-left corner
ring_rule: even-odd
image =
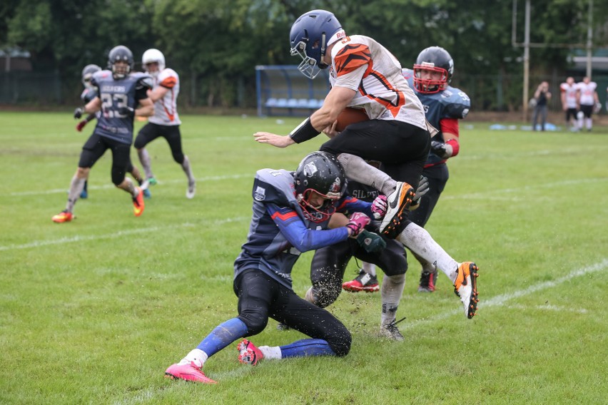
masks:
[[[320,69],[328,67],[323,63],[328,46],[343,36],[346,34],[340,21],[330,11],[313,10],[298,17],[289,32],[291,56],[302,58],[298,70],[306,77],[315,78]]]

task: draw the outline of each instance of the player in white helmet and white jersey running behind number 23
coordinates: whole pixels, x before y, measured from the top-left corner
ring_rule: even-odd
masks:
[[[144,70],[152,76],[154,84],[149,93],[151,100],[154,102],[154,115],[139,130],[134,144],[143,170],[146,172],[146,183],[143,187],[147,188],[148,185],[157,183],[152,174],[151,159],[148,150],[146,150],[146,145],[162,136],[171,148],[173,160],[181,165],[188,178],[186,198],[193,198],[196,191],[196,180],[192,174],[190,160],[181,149],[181,133],[179,130],[181,121],[177,112],[179,76],[173,69],[165,67],[165,56],[158,49],[151,48],[144,52],[141,63]]]

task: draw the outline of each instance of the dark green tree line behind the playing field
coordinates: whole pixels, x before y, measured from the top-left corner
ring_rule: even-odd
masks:
[[[255,88],[255,65],[296,64],[289,54],[293,21],[310,9],[333,11],[348,34],[372,36],[411,66],[427,46],[450,51],[458,76],[520,75],[525,0],[4,0],[0,48],[31,53],[36,71],[57,71],[64,92],[79,93],[83,66],[106,66],[108,51],[131,48],[136,62],[158,48],[182,78],[181,102],[233,107]],[[589,0],[532,1],[534,43],[585,43]],[[608,15],[595,1],[594,16]],[[605,18],[593,24],[594,46],[606,46]],[[568,68],[568,48],[547,46],[530,53],[532,73]],[[137,63],[137,68],[140,68]],[[0,66],[1,68],[1,66]],[[67,101],[70,100],[66,96]]]

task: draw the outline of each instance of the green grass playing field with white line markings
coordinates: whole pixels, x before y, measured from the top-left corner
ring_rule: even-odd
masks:
[[[299,121],[290,118],[183,121],[196,198],[186,200],[186,177],[157,140],[159,184],[141,217],[111,185],[106,154],[76,220],[58,225],[51,216],[64,209],[93,125],[80,134],[69,112],[0,113],[1,404],[607,403],[608,128],[462,129],[427,229],[456,260],[480,266],[475,319],[444,276],[435,293],[416,292],[410,260],[397,312],[405,342],[376,336],[379,294],[344,292],[329,310],[353,332],[347,357],[252,368],[234,344],[207,362],[220,384],[205,386],[163,372],[236,314],[233,260],[253,174],[295,169],[323,139],[284,150],[254,143],[255,130],[288,133]],[[311,257],[294,270],[301,295]],[[253,342],[303,337],[275,326]]]

